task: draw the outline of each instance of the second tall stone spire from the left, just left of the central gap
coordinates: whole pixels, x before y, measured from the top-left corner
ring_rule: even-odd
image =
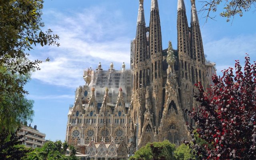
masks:
[[[155,124],[160,123],[160,112],[162,110],[162,34],[158,0],[151,0],[150,24],[149,24],[149,48],[151,56],[150,81],[153,84],[152,102]],[[149,92],[149,90],[148,90]],[[153,126],[152,126],[153,127]]]

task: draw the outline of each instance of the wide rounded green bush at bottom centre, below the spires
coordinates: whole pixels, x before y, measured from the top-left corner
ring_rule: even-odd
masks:
[[[130,157],[130,160],[171,160],[174,159],[174,150],[175,144],[170,143],[168,140],[148,143],[135,152],[134,156]]]

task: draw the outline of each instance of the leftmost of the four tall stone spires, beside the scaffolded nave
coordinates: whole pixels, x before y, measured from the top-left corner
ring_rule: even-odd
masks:
[[[138,118],[138,123],[143,124],[145,112],[145,94],[147,86],[147,70],[148,70],[148,44],[146,37],[146,24],[144,17],[143,0],[139,0],[139,11],[138,11],[138,21],[137,30],[135,38],[135,50],[134,50],[134,62],[133,62],[133,99],[132,104],[134,107],[131,109],[131,118],[133,122],[136,122]],[[142,125],[139,126],[138,138],[141,136]]]

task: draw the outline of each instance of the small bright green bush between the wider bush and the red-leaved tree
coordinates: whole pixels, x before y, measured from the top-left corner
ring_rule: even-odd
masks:
[[[175,160],[190,160],[194,158],[194,155],[191,152],[191,149],[185,144],[181,144],[174,151]]]

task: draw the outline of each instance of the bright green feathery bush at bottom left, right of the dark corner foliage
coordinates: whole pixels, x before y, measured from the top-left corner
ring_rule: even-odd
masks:
[[[75,152],[73,151],[70,156],[66,156],[66,145],[61,141],[52,142],[49,141],[42,148],[35,148],[32,152],[29,152],[23,160],[77,160]],[[69,146],[70,152],[74,146]]]

